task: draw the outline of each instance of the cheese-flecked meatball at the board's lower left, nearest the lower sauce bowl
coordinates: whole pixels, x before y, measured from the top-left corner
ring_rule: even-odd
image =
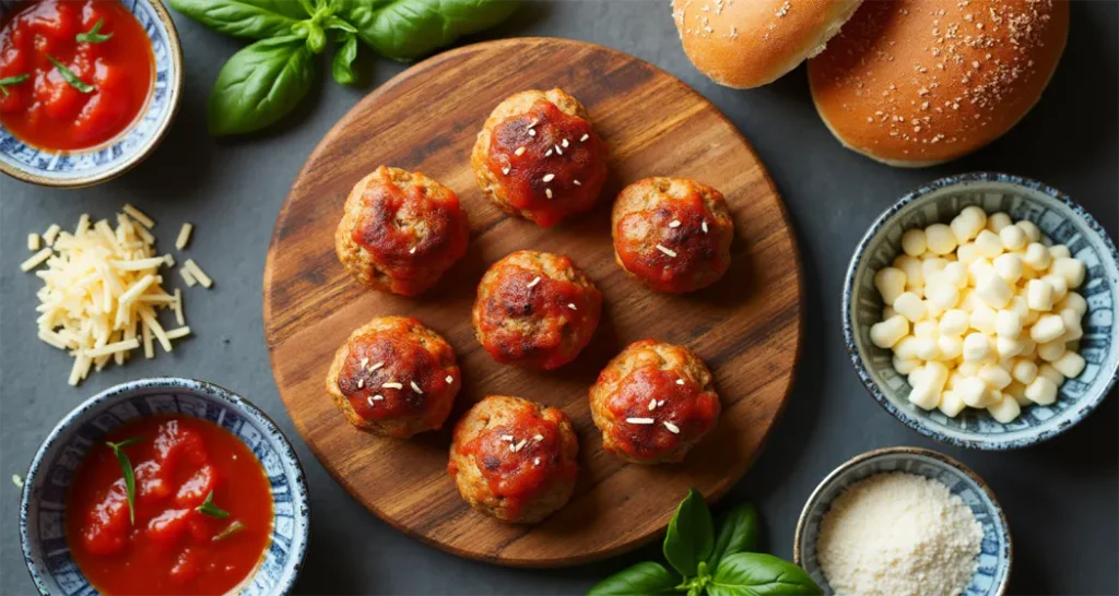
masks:
[[[407,438],[443,426],[460,375],[439,333],[411,316],[382,316],[338,349],[327,392],[354,426]]]

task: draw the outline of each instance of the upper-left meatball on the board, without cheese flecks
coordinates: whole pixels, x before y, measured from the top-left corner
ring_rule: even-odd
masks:
[[[335,250],[358,282],[415,296],[462,258],[469,237],[454,191],[420,172],[382,165],[346,199]]]

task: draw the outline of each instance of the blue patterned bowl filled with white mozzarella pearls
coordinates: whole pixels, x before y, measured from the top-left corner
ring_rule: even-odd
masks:
[[[1116,380],[1119,256],[1083,208],[998,173],[902,198],[855,250],[844,338],[871,395],[914,431],[1023,447],[1083,419]]]

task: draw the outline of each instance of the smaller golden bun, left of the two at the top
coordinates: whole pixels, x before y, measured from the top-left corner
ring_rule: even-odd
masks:
[[[727,87],[772,83],[824,50],[863,0],[673,0],[684,51]]]

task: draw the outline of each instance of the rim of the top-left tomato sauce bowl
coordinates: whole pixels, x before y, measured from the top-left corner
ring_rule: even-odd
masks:
[[[123,0],[120,0],[124,3]],[[170,50],[171,57],[171,72],[173,76],[168,83],[168,89],[170,93],[170,98],[168,100],[168,105],[170,108],[167,112],[167,116],[159,122],[159,126],[156,130],[156,134],[152,135],[151,140],[138,151],[131,155],[124,157],[120,160],[116,165],[93,174],[75,176],[73,178],[47,178],[44,176],[38,176],[31,173],[18,165],[11,165],[0,161],[0,172],[3,172],[16,180],[23,182],[30,182],[32,185],[38,185],[41,187],[51,188],[84,188],[92,187],[94,185],[100,185],[102,182],[107,182],[125,172],[135,168],[143,160],[148,159],[156,148],[162,143],[163,139],[167,136],[168,131],[171,130],[171,123],[175,122],[175,116],[179,113],[179,103],[182,96],[182,44],[179,41],[179,30],[175,27],[175,20],[171,19],[171,13],[168,12],[167,7],[163,4],[162,0],[134,0],[134,2],[144,2],[150,4],[159,21],[167,29],[167,47]],[[145,31],[147,32],[147,31]],[[137,119],[139,121],[139,116]],[[135,125],[133,122],[125,129],[125,132],[131,130]],[[123,133],[122,133],[123,134]]]

